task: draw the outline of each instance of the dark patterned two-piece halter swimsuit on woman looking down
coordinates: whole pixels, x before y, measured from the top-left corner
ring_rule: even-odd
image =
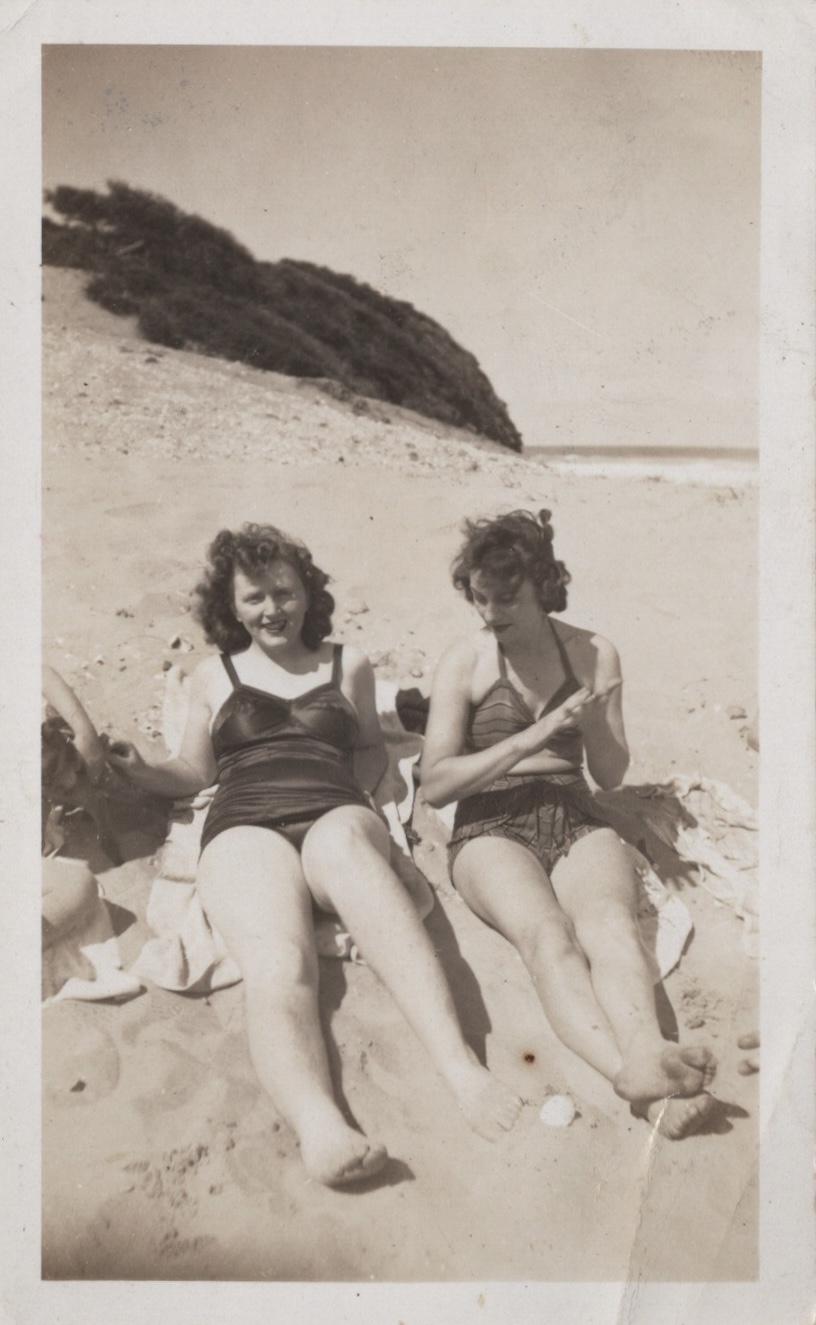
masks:
[[[547,619],[548,620],[548,619]],[[542,717],[551,713],[580,689],[566,648],[548,621],[564,678],[547,701]],[[536,718],[507,676],[507,664],[498,645],[498,678],[478,704],[470,706],[465,753],[486,750],[506,737],[531,726]],[[456,807],[448,864],[453,864],[466,841],[474,837],[505,837],[531,851],[547,874],[574,843],[597,828],[607,828],[603,814],[582,772],[584,743],[579,727],[559,731],[542,754],[572,765],[564,772],[506,774]]]

